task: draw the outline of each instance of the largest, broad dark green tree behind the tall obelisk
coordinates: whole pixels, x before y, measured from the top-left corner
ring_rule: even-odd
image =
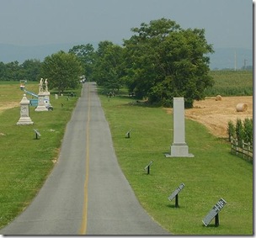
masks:
[[[181,29],[169,19],[153,20],[131,29],[125,40],[126,82],[139,98],[170,106],[173,97],[184,97],[186,108],[205,98],[213,85],[208,75],[212,46],[204,29]]]

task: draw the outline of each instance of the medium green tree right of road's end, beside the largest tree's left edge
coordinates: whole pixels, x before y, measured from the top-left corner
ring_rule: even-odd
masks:
[[[110,41],[99,42],[93,66],[93,80],[109,90],[119,90],[123,76],[123,48]]]

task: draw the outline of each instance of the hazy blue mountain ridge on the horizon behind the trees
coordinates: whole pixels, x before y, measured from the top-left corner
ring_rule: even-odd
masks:
[[[82,45],[88,43],[68,43],[68,44],[51,44],[38,46],[21,46],[0,44],[0,61],[8,63],[11,61],[19,61],[23,63],[25,60],[37,59],[44,61],[46,56],[56,53],[59,50],[68,51],[74,45]],[[98,43],[90,43],[97,50]],[[217,48],[215,53],[210,55],[211,69],[241,69],[243,66],[253,66],[253,50],[243,48]]]

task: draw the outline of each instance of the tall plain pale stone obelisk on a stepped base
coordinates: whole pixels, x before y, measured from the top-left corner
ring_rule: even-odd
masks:
[[[185,142],[184,98],[173,98],[173,145],[167,157],[194,157]]]

